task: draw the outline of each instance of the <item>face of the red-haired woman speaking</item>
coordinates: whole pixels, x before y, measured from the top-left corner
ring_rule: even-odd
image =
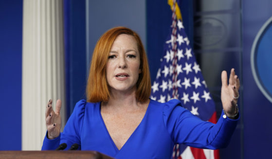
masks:
[[[136,90],[140,70],[140,53],[132,35],[121,34],[114,40],[108,57],[106,78],[109,90]]]

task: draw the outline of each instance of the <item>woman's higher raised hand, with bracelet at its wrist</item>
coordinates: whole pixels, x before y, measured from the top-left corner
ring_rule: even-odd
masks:
[[[226,71],[222,71],[221,79],[222,79],[221,101],[223,109],[225,110],[227,116],[235,115],[236,104],[239,97],[238,90],[240,88],[240,81],[238,79],[238,76],[235,74],[234,69],[231,70],[229,84]]]

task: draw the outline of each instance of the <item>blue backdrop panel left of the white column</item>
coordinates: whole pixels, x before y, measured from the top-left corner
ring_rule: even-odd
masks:
[[[21,150],[22,0],[0,0],[0,150]]]

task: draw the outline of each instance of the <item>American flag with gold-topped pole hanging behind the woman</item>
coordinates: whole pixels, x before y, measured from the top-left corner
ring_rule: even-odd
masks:
[[[179,99],[182,106],[203,121],[216,122],[215,104],[196,62],[193,50],[173,0],[172,25],[164,43],[161,68],[153,82],[151,99],[165,103]],[[181,16],[180,16],[181,17]],[[185,145],[175,145],[173,159],[217,159],[218,150],[202,150]]]

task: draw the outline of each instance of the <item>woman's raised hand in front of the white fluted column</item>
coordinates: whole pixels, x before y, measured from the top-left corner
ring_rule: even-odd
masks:
[[[54,139],[59,136],[60,128],[61,128],[61,116],[60,116],[60,108],[61,108],[61,100],[58,99],[56,101],[55,111],[52,108],[52,100],[50,99],[45,111],[45,121],[46,127],[48,131],[48,139]]]

